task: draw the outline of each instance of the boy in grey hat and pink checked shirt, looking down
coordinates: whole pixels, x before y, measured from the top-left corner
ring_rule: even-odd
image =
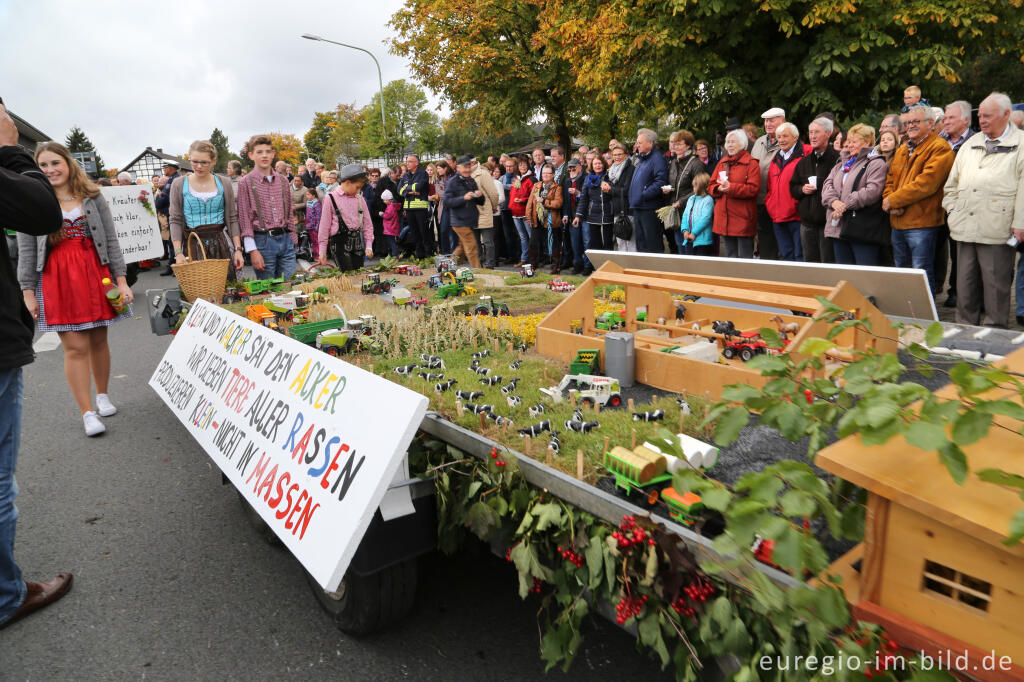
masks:
[[[328,252],[343,272],[362,267],[364,256],[374,257],[374,223],[360,191],[366,181],[362,165],[348,164],[338,173],[338,188],[324,198],[316,232],[321,265],[327,265]]]

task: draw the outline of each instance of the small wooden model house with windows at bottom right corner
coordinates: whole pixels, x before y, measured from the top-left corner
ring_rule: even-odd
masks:
[[[1024,372],[1024,350],[999,365]],[[1020,402],[1002,392],[993,397]],[[956,399],[948,386],[937,395]],[[964,449],[971,471],[1024,476],[1022,426],[995,417],[988,435]],[[855,615],[913,651],[943,662],[951,651],[954,666],[967,652],[964,672],[974,678],[1024,680],[1024,544],[1004,544],[1024,506],[1019,492],[974,473],[957,485],[934,452],[902,438],[866,446],[853,435],[822,450],[815,463],[868,491],[864,542],[829,571],[843,577]],[[997,669],[984,670],[993,651]],[[1000,656],[1016,665],[999,670]]]

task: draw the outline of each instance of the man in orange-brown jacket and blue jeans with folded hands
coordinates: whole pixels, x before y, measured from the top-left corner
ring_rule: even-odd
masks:
[[[889,212],[893,227],[896,266],[925,270],[928,286],[937,294],[935,245],[945,220],[942,185],[956,157],[933,129],[931,106],[911,106],[900,120],[906,129],[906,142],[893,156],[882,191],[882,209]]]

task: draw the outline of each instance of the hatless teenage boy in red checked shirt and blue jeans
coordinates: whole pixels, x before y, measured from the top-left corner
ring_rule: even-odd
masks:
[[[247,145],[255,167],[239,180],[239,227],[257,280],[295,274],[292,196],[288,178],[273,170],[276,154],[269,135],[253,135]]]

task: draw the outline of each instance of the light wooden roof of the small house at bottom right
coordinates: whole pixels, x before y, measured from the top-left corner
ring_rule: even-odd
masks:
[[[1024,372],[1024,349],[998,365]],[[936,394],[956,399],[952,386]],[[992,397],[1013,399],[1015,393],[1000,390],[985,395],[986,399]],[[1024,476],[1022,426],[1019,421],[996,417],[987,436],[964,449],[970,471],[997,468]],[[1024,557],[1024,545],[1008,548],[1002,544],[1010,532],[1010,520],[1024,507],[1019,492],[979,480],[974,473],[968,474],[964,485],[957,485],[936,453],[909,445],[901,436],[869,446],[854,434],[819,452],[815,464],[895,504]]]

